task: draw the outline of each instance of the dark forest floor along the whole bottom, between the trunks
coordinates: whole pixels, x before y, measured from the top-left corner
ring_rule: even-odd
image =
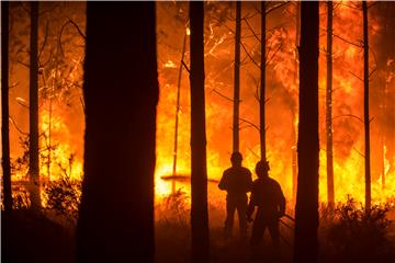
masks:
[[[394,210],[388,213],[388,218],[394,218]],[[157,220],[155,229],[156,263],[190,262],[188,215],[182,211],[177,216],[177,220],[170,220],[171,218]],[[216,215],[211,214],[211,216],[215,216],[215,220],[212,220],[214,225],[212,224],[210,229],[212,263],[292,262],[293,232],[287,227],[281,227],[280,260],[276,258],[278,254],[271,244],[268,232],[264,235],[264,240],[255,260],[251,260],[249,241],[240,240],[237,237],[237,220],[234,229],[236,237],[227,241],[224,239],[223,218],[218,218],[223,215],[224,211],[221,210]],[[24,209],[14,210],[10,218],[4,218],[2,215],[1,219],[5,220],[5,228],[2,228],[1,233],[1,262],[74,262],[75,227],[70,227],[70,225],[65,227],[65,225],[49,220],[46,216],[32,214]],[[324,221],[319,228],[319,262],[395,262],[395,224],[388,224],[385,228],[380,224],[382,221],[369,225],[370,227],[366,229],[361,221],[350,222],[346,227],[338,225],[335,227],[331,222]],[[375,229],[375,227],[379,228]],[[352,229],[353,231],[349,231]]]

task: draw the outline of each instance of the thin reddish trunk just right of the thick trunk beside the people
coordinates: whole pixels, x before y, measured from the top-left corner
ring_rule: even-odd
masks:
[[[328,205],[335,204],[334,138],[332,138],[332,15],[334,2],[327,2],[327,89],[326,89],[326,137],[327,137],[327,191]]]

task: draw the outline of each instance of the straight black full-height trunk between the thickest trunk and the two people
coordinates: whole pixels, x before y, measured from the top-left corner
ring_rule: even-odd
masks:
[[[190,2],[191,21],[191,262],[210,261],[204,103],[203,2]]]

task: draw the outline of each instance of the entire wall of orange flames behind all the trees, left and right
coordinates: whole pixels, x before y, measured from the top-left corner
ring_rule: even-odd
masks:
[[[259,157],[259,103],[256,100],[257,83],[259,82],[259,39],[256,37],[259,32],[260,18],[257,15],[257,3],[244,4],[242,15],[246,18],[242,24],[241,52],[241,104],[240,104],[240,151],[245,157],[245,165],[253,170]],[[207,122],[207,169],[208,178],[218,180],[222,172],[229,165],[232,149],[232,92],[233,92],[233,56],[234,56],[234,21],[224,19],[232,12],[230,3],[211,3],[207,5],[206,14],[206,122]],[[187,24],[188,4],[184,3],[160,3],[157,7],[158,13],[158,69],[160,83],[160,100],[158,105],[158,130],[157,130],[157,165],[156,165],[156,195],[161,198],[171,193],[171,180],[163,181],[161,178],[172,174],[173,171],[173,138],[174,138],[174,111],[177,106],[177,76],[179,73],[181,44],[189,31]],[[321,5],[320,12],[325,13],[326,8]],[[379,12],[379,11],[376,11]],[[382,26],[379,16],[370,16],[370,42],[372,52],[372,92],[384,92],[383,96],[394,95],[394,60],[382,57],[380,54],[385,39],[382,36]],[[80,18],[81,19],[81,18]],[[274,10],[268,16],[268,76],[267,80],[267,108],[268,108],[268,158],[271,163],[271,176],[280,180],[286,193],[287,199],[293,202],[293,168],[292,156],[295,151],[297,133],[297,49],[296,49],[296,4],[290,3]],[[23,21],[22,21],[23,22]],[[325,149],[325,88],[326,88],[326,18],[321,16],[321,36],[319,57],[319,102],[320,102],[320,183],[319,196],[326,202],[326,149]],[[169,26],[177,25],[173,34],[169,33]],[[80,26],[83,27],[83,24]],[[72,33],[68,33],[72,35]],[[80,38],[74,32],[76,39]],[[335,190],[336,201],[345,202],[348,195],[358,201],[363,201],[363,82],[362,76],[362,44],[359,39],[362,36],[362,13],[341,2],[337,4],[334,19],[334,151],[335,151]],[[80,39],[79,39],[80,41]],[[72,45],[72,44],[70,44]],[[64,47],[65,48],[65,47]],[[81,78],[82,64],[81,54],[72,55],[65,49],[72,60],[68,78],[71,82]],[[71,54],[71,55],[70,55]],[[385,59],[385,62],[377,61]],[[381,58],[382,57],[382,58]],[[253,61],[251,59],[255,59]],[[189,50],[187,48],[184,64],[189,64]],[[385,65],[381,67],[379,64]],[[21,65],[15,67],[15,82],[18,77],[23,75]],[[52,71],[54,72],[54,71]],[[78,72],[78,73],[77,73]],[[59,75],[61,76],[61,73]],[[60,77],[59,77],[60,78]],[[189,176],[190,167],[190,91],[188,71],[183,70],[180,85],[180,112],[178,128],[178,174]],[[385,79],[385,88],[381,79]],[[50,81],[50,80],[49,80]],[[81,79],[78,79],[81,82]],[[70,82],[70,80],[69,80]],[[45,88],[45,87],[44,87]],[[384,89],[384,90],[383,90]],[[21,112],[19,104],[20,92],[15,91],[11,100],[14,112]],[[79,96],[80,91],[71,91]],[[395,158],[394,158],[394,128],[392,105],[384,105],[383,96],[372,95],[372,197],[374,202],[385,202],[394,197],[395,193]],[[11,98],[12,99],[12,98]],[[387,100],[387,99],[386,99]],[[82,176],[83,155],[83,114],[79,100],[75,100],[71,107],[65,107],[61,100],[53,103],[53,112],[48,103],[43,105],[40,112],[43,133],[41,145],[46,148],[41,153],[41,175],[43,179],[56,180],[64,173],[70,173],[72,179]],[[74,114],[65,114],[72,108],[79,111],[78,121],[71,121]],[[77,110],[76,110],[77,108]],[[12,112],[11,112],[12,114]],[[24,115],[18,113],[19,124],[26,126]],[[391,115],[392,114],[392,115]],[[49,118],[52,118],[49,121]],[[70,126],[71,125],[71,126]],[[50,128],[49,128],[50,126]],[[74,129],[74,132],[70,130]],[[50,132],[49,132],[50,129]],[[75,133],[77,132],[77,134]],[[50,133],[50,135],[49,135]],[[11,130],[11,136],[18,138],[19,132]],[[79,138],[77,138],[79,137]],[[76,139],[77,138],[77,139]],[[22,155],[16,139],[11,141],[12,156]],[[49,162],[49,163],[48,163]],[[67,168],[67,169],[66,169]],[[49,169],[49,171],[48,171]],[[68,170],[69,169],[69,170]],[[14,174],[13,180],[21,180],[27,174],[27,170]],[[384,185],[385,182],[385,185]],[[182,187],[189,193],[188,183],[176,182],[177,187]],[[214,185],[213,185],[214,186]],[[222,194],[217,191],[211,192],[214,195]],[[214,196],[213,196],[214,198]],[[215,198],[214,198],[215,199]],[[159,199],[158,199],[159,201]]]

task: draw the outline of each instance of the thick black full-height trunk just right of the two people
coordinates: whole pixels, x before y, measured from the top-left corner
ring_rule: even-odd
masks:
[[[318,2],[301,3],[294,262],[318,262]]]

